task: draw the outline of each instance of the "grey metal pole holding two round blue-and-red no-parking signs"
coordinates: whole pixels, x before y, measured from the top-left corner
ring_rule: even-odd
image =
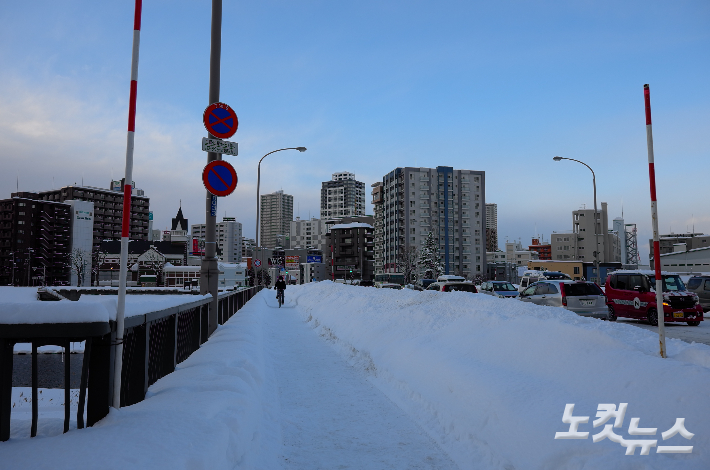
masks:
[[[210,42],[210,90],[209,103],[219,101],[220,58],[222,54],[222,0],[212,0],[212,32]],[[208,133],[210,139],[216,138]],[[221,160],[222,154],[208,152],[207,163]],[[209,191],[205,198],[205,257],[200,269],[200,293],[212,294],[208,317],[208,331],[217,329],[219,300],[219,267],[217,266],[217,196]]]

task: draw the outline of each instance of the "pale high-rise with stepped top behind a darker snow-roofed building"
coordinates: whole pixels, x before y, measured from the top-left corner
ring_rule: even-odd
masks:
[[[354,173],[333,173],[320,190],[320,217],[353,217],[365,215],[365,183],[356,181]]]

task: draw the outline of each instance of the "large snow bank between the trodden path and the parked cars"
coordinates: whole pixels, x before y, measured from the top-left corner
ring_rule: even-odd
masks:
[[[320,282],[289,288],[305,321],[413,416],[461,468],[710,468],[710,347],[578,317],[562,308],[465,292],[396,291]],[[584,440],[565,404],[589,416]],[[692,454],[626,456],[591,435],[600,403],[628,403],[625,439],[693,445]],[[631,418],[656,436],[629,436]],[[688,441],[660,434],[686,418]],[[612,420],[613,421],[613,420]]]

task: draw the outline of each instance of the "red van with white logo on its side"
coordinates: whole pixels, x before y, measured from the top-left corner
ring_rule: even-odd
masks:
[[[679,275],[662,272],[661,277],[664,321],[698,326],[703,320],[703,308],[698,296],[686,290]],[[658,325],[655,288],[655,271],[614,271],[606,278],[609,319],[635,318]]]

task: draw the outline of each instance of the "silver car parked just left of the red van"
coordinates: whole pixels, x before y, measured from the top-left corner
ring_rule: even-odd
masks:
[[[583,317],[610,319],[604,292],[590,281],[538,281],[520,293],[520,300],[537,305],[564,307]]]

